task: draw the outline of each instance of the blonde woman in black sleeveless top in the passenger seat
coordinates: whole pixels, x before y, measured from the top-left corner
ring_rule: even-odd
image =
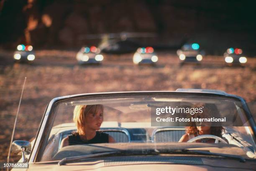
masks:
[[[61,148],[78,144],[115,142],[109,134],[97,131],[103,122],[103,110],[104,107],[101,104],[76,106],[73,120],[77,126],[77,132],[64,138],[61,141]]]

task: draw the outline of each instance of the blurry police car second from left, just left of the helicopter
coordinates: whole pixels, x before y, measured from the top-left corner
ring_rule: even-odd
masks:
[[[100,54],[100,49],[91,47],[82,47],[79,52],[77,52],[77,62],[78,64],[101,64],[104,57]]]

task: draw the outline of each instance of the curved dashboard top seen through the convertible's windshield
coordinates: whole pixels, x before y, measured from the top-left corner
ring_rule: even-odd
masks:
[[[215,144],[215,143],[110,143],[110,144],[88,144],[88,145],[76,145],[66,146],[54,156],[54,160],[61,160],[70,156],[83,156],[93,153],[101,153],[107,151],[138,151],[142,150],[206,150],[212,153],[222,153],[239,155],[245,158],[246,153],[238,146],[232,144]]]

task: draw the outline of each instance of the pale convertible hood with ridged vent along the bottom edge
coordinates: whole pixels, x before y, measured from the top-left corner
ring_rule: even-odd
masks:
[[[152,160],[149,157],[133,157],[126,158],[120,157],[119,161],[117,158],[108,159],[96,159],[91,161],[79,162],[79,163],[68,163],[59,166],[57,162],[55,163],[40,163],[40,164],[30,164],[29,170],[37,169],[44,171],[82,171],[82,170],[93,170],[93,171],[113,171],[113,170],[140,170],[140,171],[253,171],[256,168],[255,161],[246,161],[241,163],[237,160],[222,159],[222,158],[209,158],[209,157],[187,157],[187,161],[193,159],[200,160],[201,163],[188,164],[184,161],[184,157],[179,158],[179,156],[174,156],[174,159],[180,159],[177,161],[162,161],[164,157],[156,157],[156,160]],[[147,160],[150,159],[150,160]]]

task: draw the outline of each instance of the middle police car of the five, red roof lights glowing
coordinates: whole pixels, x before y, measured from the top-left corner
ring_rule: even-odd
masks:
[[[134,64],[151,64],[155,65],[158,61],[153,47],[139,47],[133,55]]]

